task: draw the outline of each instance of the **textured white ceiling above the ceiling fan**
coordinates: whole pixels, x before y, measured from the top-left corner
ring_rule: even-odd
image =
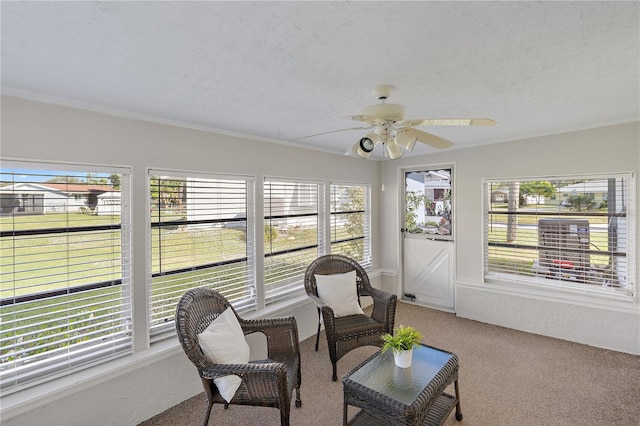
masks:
[[[2,92],[286,141],[378,84],[450,149],[640,115],[638,2],[6,2]],[[344,153],[362,131],[296,142]],[[418,144],[413,152],[434,149]]]

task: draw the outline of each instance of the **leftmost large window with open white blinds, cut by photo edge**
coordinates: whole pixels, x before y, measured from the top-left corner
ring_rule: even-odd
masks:
[[[132,352],[129,191],[127,168],[3,161],[3,394]]]

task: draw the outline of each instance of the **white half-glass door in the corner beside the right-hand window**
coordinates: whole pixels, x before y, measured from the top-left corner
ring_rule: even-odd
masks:
[[[453,312],[453,167],[405,170],[403,176],[402,297]]]

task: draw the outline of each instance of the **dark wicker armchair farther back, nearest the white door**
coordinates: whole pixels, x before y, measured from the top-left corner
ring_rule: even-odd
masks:
[[[318,297],[315,275],[345,274],[356,271],[358,303],[360,296],[373,298],[373,311],[368,315],[349,315],[335,318],[331,307]],[[329,357],[333,364],[333,381],[338,380],[337,363],[340,358],[360,346],[382,346],[380,338],[385,333],[393,333],[397,296],[371,286],[364,268],[355,260],[342,255],[321,256],[311,262],[304,277],[307,294],[318,307],[318,334],[316,351],[320,340],[321,318],[324,320]]]

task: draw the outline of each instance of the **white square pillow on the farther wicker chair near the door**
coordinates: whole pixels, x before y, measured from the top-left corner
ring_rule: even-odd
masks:
[[[318,297],[331,306],[336,318],[348,315],[363,315],[364,312],[358,304],[358,287],[356,284],[356,271],[346,274],[314,275]]]

